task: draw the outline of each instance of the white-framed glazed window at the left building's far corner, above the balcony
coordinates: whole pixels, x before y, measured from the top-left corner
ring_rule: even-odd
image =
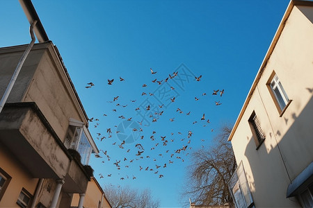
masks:
[[[83,165],[88,164],[90,155],[93,153],[93,147],[90,144],[91,140],[93,139],[83,123],[81,121],[70,119],[70,125],[67,129],[64,145],[66,148],[71,148],[79,152],[81,155],[81,164]]]

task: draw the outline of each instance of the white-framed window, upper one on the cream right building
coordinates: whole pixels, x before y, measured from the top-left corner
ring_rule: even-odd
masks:
[[[277,74],[274,73],[273,79],[271,80],[271,83],[269,83],[269,87],[271,88],[271,92],[273,92],[277,101],[280,112],[283,112],[284,108],[289,103],[289,98],[284,91],[284,87],[282,87],[282,83],[280,83],[280,79]]]

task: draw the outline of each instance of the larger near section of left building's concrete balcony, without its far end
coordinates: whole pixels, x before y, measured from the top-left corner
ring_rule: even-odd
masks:
[[[3,108],[0,143],[33,177],[63,178],[67,172],[70,158],[35,112],[34,105]]]

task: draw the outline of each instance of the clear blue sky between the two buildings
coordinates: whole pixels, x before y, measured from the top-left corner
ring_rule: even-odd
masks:
[[[188,198],[179,193],[188,183],[190,155],[207,148],[220,125],[236,121],[288,3],[33,0],[86,113],[94,118],[89,127],[93,139],[110,157],[101,152],[102,158],[90,159],[99,184],[150,188],[161,207],[182,207]],[[1,47],[31,41],[17,0],[0,1],[0,17]],[[175,71],[177,76],[165,83]],[[196,81],[195,76],[202,78]],[[112,85],[108,79],[114,79]],[[163,81],[159,85],[154,79]],[[90,82],[95,86],[86,88]],[[217,89],[225,90],[223,96],[212,95]],[[136,144],[144,149],[141,155],[136,155],[142,151]],[[118,161],[120,170],[114,164]]]

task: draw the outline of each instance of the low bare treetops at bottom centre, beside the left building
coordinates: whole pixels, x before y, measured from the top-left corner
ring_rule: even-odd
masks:
[[[104,193],[112,208],[157,208],[159,200],[153,200],[150,189],[139,192],[127,187],[106,185]]]

